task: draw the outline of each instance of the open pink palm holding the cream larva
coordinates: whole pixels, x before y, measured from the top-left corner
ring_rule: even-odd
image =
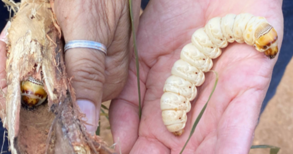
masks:
[[[198,96],[187,114],[185,133],[179,137],[163,125],[160,98],[174,62],[196,29],[213,17],[251,13],[266,17],[272,24],[280,48],[281,6],[281,1],[274,0],[151,1],[137,32],[142,118],[139,121],[134,57],[127,85],[110,106],[114,141],[119,140],[122,153],[178,154],[182,149],[212,91],[214,75],[206,73],[205,83],[198,87]],[[184,153],[248,153],[276,59],[270,60],[244,43],[232,43],[223,50],[212,68],[219,73],[217,88]]]

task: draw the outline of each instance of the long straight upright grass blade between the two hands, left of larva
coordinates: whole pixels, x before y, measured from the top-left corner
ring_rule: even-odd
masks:
[[[142,107],[140,102],[139,62],[138,62],[138,52],[137,52],[137,46],[136,46],[136,34],[135,34],[134,19],[133,19],[132,0],[129,0],[129,10],[130,10],[132,37],[133,37],[134,53],[135,53],[137,89],[138,89],[138,107],[139,107],[139,119],[140,119],[142,116]]]

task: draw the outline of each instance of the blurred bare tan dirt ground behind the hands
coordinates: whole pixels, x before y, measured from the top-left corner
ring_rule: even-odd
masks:
[[[293,60],[277,88],[276,95],[268,103],[255,130],[253,145],[269,144],[281,147],[278,154],[293,153]],[[110,101],[103,103],[110,105]],[[101,137],[108,145],[113,144],[108,120],[101,117]],[[253,149],[249,154],[269,154],[269,149]]]

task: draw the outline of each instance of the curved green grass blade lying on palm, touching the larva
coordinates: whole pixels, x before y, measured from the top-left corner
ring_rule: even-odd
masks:
[[[217,86],[217,83],[218,83],[218,79],[219,79],[219,75],[218,75],[218,73],[217,73],[216,71],[212,71],[212,72],[214,72],[214,74],[216,75],[216,81],[215,81],[215,83],[214,83],[213,90],[212,90],[211,94],[209,95],[209,99],[208,99],[207,102],[205,103],[205,106],[202,108],[202,110],[200,111],[200,114],[197,116],[197,118],[196,118],[196,120],[195,120],[195,122],[194,122],[194,124],[193,124],[193,126],[192,126],[192,129],[191,129],[191,131],[190,131],[189,137],[188,137],[186,143],[184,144],[182,150],[180,151],[180,154],[182,154],[182,152],[183,152],[183,150],[185,149],[187,143],[189,142],[191,136],[193,135],[193,133],[194,133],[194,131],[195,131],[195,128],[196,128],[198,122],[200,121],[200,118],[202,117],[203,113],[205,112],[205,108],[207,108],[207,103],[208,103],[209,100],[211,99],[211,97],[212,97],[212,95],[213,95],[213,93],[214,93],[214,91],[215,91],[215,89],[216,89],[216,86]]]

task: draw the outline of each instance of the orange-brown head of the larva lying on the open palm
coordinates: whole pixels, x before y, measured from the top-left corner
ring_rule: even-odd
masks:
[[[278,35],[270,24],[262,24],[256,29],[254,47],[256,50],[264,52],[270,59],[277,55]]]

